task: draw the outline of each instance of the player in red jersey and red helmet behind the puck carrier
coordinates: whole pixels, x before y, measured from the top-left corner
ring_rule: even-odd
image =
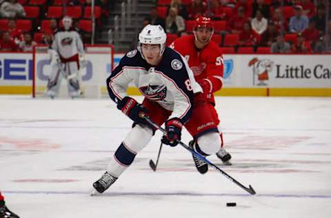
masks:
[[[176,39],[170,48],[179,52],[188,61],[190,69],[193,71],[194,78],[203,88],[203,96],[196,95],[194,100],[194,108],[196,102],[208,104],[199,110],[193,110],[193,115],[185,127],[194,137],[192,146],[199,152],[199,137],[208,132],[220,132],[221,144],[220,150],[217,152],[217,157],[225,164],[230,165],[231,155],[223,148],[223,134],[219,126],[219,117],[215,110],[214,92],[220,90],[223,86],[223,55],[221,48],[211,41],[214,33],[214,25],[208,17],[198,17],[194,26],[194,34],[186,35]],[[196,115],[194,115],[196,114]],[[203,114],[204,116],[199,116]],[[201,152],[203,155],[203,152]],[[208,155],[208,154],[205,154]],[[210,155],[210,154],[209,154]],[[204,173],[208,170],[208,165],[197,163],[194,159],[199,172]]]

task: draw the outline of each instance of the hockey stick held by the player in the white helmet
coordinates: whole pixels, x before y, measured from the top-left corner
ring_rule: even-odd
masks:
[[[146,116],[143,116],[144,119],[146,119],[146,121],[148,121],[148,123],[150,123],[150,125],[154,126],[154,128],[157,128],[159,130],[161,130],[161,132],[163,132],[163,134],[166,134],[167,131],[163,128],[161,128],[161,126],[157,126],[156,123],[154,123],[151,119],[149,119]],[[225,176],[226,178],[228,178],[230,181],[234,182],[234,184],[237,184],[237,186],[239,186],[240,188],[243,188],[243,190],[245,190],[246,192],[250,193],[250,195],[255,195],[255,190],[252,188],[252,186],[249,185],[249,188],[243,186],[243,184],[241,184],[239,181],[237,181],[236,179],[230,177],[230,175],[228,175],[228,173],[224,172],[223,170],[221,170],[220,168],[218,168],[217,166],[215,166],[214,164],[212,164],[212,162],[208,161],[208,159],[206,159],[205,157],[203,157],[202,155],[200,155],[198,152],[195,152],[194,150],[192,150],[190,147],[186,146],[185,143],[179,141],[179,144],[185,148],[186,150],[188,150],[189,152],[192,153],[192,155],[199,157],[201,160],[205,161],[205,163],[207,163],[209,166],[211,166],[212,168],[214,168],[215,170],[217,170],[217,172],[221,172],[221,174],[223,176]]]

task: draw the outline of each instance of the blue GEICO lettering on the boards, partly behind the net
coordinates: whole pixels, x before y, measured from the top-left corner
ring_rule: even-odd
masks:
[[[50,75],[50,60],[43,59],[37,62],[37,77],[47,81]],[[81,70],[82,80],[92,79],[93,66],[87,61],[86,68]],[[32,80],[33,61],[32,59],[0,59],[0,79],[3,80]]]

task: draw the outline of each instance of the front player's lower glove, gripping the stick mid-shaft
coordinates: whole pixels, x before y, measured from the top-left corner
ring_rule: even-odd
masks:
[[[177,146],[178,142],[181,141],[181,128],[183,128],[183,123],[177,117],[165,121],[167,134],[163,135],[162,143],[172,147]]]

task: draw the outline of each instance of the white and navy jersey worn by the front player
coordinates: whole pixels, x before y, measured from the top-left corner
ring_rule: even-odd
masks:
[[[179,117],[183,123],[190,118],[194,93],[202,92],[187,61],[171,48],[165,48],[158,66],[150,66],[138,50],[128,52],[107,79],[110,98],[121,101],[129,83],[150,101],[171,110],[170,118]]]

